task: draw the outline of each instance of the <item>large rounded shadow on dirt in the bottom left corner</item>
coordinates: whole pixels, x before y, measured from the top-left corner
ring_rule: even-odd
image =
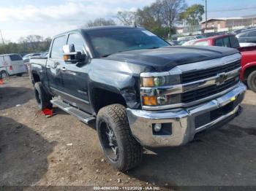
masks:
[[[0,117],[0,185],[32,185],[48,170],[47,157],[55,142],[46,141],[31,128]]]

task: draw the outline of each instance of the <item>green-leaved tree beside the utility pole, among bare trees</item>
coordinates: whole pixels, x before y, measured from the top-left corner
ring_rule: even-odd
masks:
[[[204,13],[205,9],[202,4],[193,4],[181,13],[181,20],[185,20],[189,26],[196,26],[203,20]]]

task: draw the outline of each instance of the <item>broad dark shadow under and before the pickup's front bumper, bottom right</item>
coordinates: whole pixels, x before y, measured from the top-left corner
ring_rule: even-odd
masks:
[[[235,120],[184,147],[151,149],[128,175],[158,186],[255,186],[256,106],[243,106]]]

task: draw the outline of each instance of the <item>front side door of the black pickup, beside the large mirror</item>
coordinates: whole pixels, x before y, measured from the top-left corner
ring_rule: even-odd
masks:
[[[86,54],[86,42],[77,32],[68,35],[67,44],[75,45],[75,52]],[[91,112],[88,94],[88,70],[86,63],[65,63],[65,70],[61,71],[64,82],[64,92],[67,93],[69,103],[85,112]]]

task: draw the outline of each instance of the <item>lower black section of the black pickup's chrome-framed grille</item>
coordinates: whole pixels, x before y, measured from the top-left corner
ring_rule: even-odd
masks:
[[[220,93],[224,90],[227,90],[230,87],[233,87],[239,82],[239,77],[229,79],[222,85],[211,85],[208,87],[203,87],[198,90],[193,90],[187,93],[182,94],[182,103],[187,104],[192,101],[197,101],[202,98],[207,98],[208,96]]]

